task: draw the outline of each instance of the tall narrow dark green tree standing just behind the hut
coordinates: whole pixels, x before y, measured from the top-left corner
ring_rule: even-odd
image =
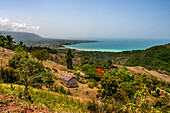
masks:
[[[72,58],[73,58],[73,54],[71,53],[71,50],[68,49],[68,51],[66,52],[66,63],[67,63],[67,69],[73,69],[73,66],[72,66]]]

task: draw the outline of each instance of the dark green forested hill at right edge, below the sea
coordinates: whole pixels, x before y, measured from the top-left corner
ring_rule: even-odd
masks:
[[[140,51],[128,58],[124,65],[142,66],[170,75],[170,43]]]

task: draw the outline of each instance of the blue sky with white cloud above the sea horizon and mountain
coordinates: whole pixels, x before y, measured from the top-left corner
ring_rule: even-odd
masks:
[[[0,30],[47,38],[170,38],[170,0],[0,0]]]

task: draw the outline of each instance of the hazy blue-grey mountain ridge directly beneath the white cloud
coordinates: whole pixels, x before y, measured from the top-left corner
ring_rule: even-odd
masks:
[[[34,33],[28,32],[12,32],[12,31],[0,31],[2,35],[11,35],[14,37],[15,41],[39,41],[43,40],[43,38]]]

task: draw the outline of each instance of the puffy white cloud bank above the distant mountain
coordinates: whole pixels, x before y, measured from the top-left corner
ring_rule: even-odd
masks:
[[[39,26],[30,26],[26,23],[18,23],[12,21],[8,18],[1,18],[0,17],[0,30],[4,31],[35,31],[39,30]]]

